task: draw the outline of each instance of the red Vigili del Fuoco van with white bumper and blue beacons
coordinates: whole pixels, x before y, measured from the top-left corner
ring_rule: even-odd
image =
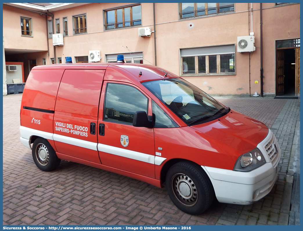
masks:
[[[35,164],[61,160],[165,186],[182,211],[250,204],[273,187],[280,148],[263,123],[156,66],[37,66],[22,96],[21,142]]]

